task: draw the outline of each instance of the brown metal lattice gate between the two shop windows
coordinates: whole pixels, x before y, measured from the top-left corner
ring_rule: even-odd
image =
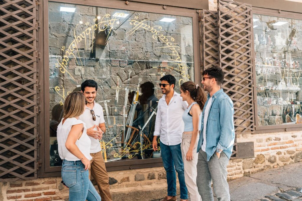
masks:
[[[218,0],[218,11],[201,11],[203,69],[219,66],[225,73],[222,88],[234,103],[235,133],[252,133],[253,96],[252,6]],[[237,155],[237,142],[232,158]]]

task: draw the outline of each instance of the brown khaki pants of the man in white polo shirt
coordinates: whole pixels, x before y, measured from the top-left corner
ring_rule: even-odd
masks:
[[[90,153],[90,155],[92,159],[89,166],[89,179],[91,174],[98,185],[102,201],[112,201],[109,188],[109,176],[106,171],[102,152]]]

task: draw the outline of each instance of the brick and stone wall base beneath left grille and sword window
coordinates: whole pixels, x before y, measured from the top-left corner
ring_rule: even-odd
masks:
[[[112,171],[109,172],[109,177],[114,200],[130,200],[133,195],[133,200],[148,200],[146,197],[160,199],[166,194],[167,182],[163,167]],[[68,200],[68,188],[61,184],[61,181],[61,177],[50,177],[32,181],[2,182],[0,200]],[[96,185],[95,188],[98,190]]]

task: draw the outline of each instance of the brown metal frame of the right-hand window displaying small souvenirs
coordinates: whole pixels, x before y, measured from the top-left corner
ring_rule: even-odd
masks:
[[[268,8],[258,8],[253,7],[253,14],[268,15],[273,17],[284,17],[302,20],[302,13],[294,13],[288,11],[273,10]],[[253,71],[255,70],[255,65],[253,66]],[[284,131],[297,131],[302,130],[302,124],[292,124],[292,125],[268,125],[260,126],[258,123],[258,105],[257,105],[257,87],[256,87],[256,76],[254,74],[254,97],[255,97],[255,131],[253,133],[272,133],[272,132],[284,132]]]

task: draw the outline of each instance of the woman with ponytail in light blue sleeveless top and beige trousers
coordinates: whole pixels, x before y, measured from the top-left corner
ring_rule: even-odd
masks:
[[[188,81],[180,86],[180,96],[183,101],[188,102],[188,108],[182,115],[185,123],[185,129],[182,134],[182,160],[185,169],[185,183],[190,193],[191,201],[201,201],[196,185],[198,152],[197,144],[199,132],[201,129],[201,109],[207,101],[204,90],[195,85],[194,82]]]

